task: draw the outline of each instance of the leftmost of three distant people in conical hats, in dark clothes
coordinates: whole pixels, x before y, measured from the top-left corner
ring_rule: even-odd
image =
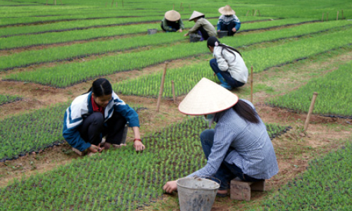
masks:
[[[184,25],[177,11],[167,11],[161,20],[161,29],[165,32],[182,32]]]

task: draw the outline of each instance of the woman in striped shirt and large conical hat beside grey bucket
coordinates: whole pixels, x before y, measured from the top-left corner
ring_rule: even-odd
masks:
[[[208,160],[206,165],[188,177],[215,177],[221,181],[218,196],[227,196],[230,181],[270,179],[279,167],[265,124],[253,104],[203,78],[189,91],[179,105],[186,115],[204,115],[217,122],[215,129],[201,133],[201,146]],[[164,191],[177,189],[177,181],[168,181]]]

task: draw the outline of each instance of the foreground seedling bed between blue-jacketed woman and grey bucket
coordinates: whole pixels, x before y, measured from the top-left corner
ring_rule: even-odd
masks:
[[[116,151],[73,160],[0,189],[5,210],[136,210],[163,195],[166,181],[185,177],[206,164],[199,134],[207,122],[189,118]],[[282,132],[286,127],[268,127]]]

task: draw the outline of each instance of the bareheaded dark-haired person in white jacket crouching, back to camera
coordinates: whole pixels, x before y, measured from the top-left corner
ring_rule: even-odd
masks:
[[[210,67],[226,89],[242,87],[248,79],[248,69],[241,53],[236,49],[220,44],[216,37],[207,41],[208,49],[215,58],[210,60]]]

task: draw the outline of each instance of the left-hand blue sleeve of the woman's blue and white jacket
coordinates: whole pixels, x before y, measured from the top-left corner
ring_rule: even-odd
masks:
[[[86,143],[82,137],[80,136],[80,132],[77,130],[77,127],[72,127],[68,129],[67,127],[67,119],[68,119],[68,113],[67,110],[65,112],[65,116],[63,117],[63,138],[70,144],[70,146],[77,148],[79,151],[84,151],[89,146],[91,146],[90,143]]]

